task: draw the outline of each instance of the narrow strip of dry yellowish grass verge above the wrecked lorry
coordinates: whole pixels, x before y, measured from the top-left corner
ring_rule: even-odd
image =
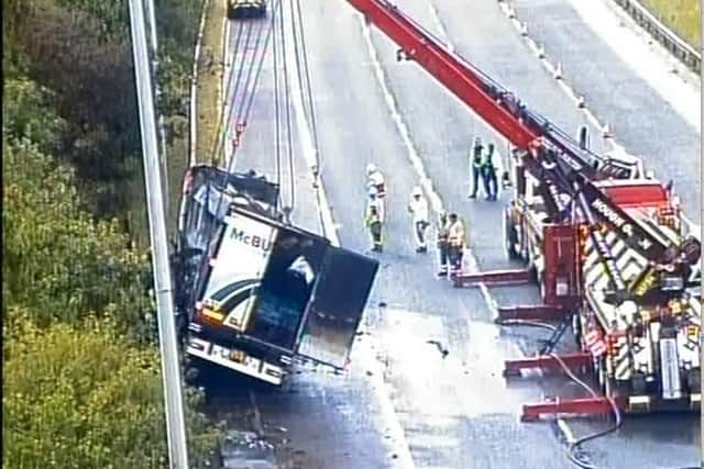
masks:
[[[226,18],[226,2],[208,0],[206,24],[202,32],[200,57],[198,58],[198,99],[196,112],[198,114],[196,135],[196,155],[200,163],[210,163],[216,147],[216,139],[220,131],[220,93],[223,92],[222,75],[224,55],[222,42],[222,22]]]

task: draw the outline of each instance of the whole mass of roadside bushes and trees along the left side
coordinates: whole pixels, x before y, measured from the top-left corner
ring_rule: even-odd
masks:
[[[180,179],[200,2],[156,7]],[[3,0],[3,467],[166,467],[127,1]],[[220,434],[186,394],[200,466]]]

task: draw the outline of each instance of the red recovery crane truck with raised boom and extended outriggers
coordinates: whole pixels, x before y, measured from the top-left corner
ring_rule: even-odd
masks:
[[[572,319],[581,350],[509,360],[506,375],[563,365],[593,369],[602,397],[524,406],[541,414],[698,409],[701,300],[688,280],[700,242],[679,200],[639,159],[600,156],[529,110],[386,0],[348,0],[515,147],[504,213],[510,258],[528,268],[462,272],[457,287],[537,280],[544,304],[498,310],[505,320]]]

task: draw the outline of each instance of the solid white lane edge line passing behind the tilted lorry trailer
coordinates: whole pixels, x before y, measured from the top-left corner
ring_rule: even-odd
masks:
[[[288,5],[290,8],[290,4]],[[293,34],[288,33],[289,44],[294,44]],[[296,126],[298,129],[298,133],[301,141],[302,146],[302,155],[306,158],[306,161],[309,167],[314,167],[316,165],[316,147],[314,145],[312,132],[310,127],[310,123],[307,120],[304,103],[300,98],[300,93],[297,92],[301,89],[300,80],[298,79],[298,74],[296,72],[296,63],[295,57],[292,54],[287,54],[286,60],[288,62],[287,71],[289,75],[290,86],[294,92],[290,93],[292,101],[294,105],[294,112],[296,114]],[[332,211],[330,209],[330,204],[328,203],[328,198],[326,196],[324,187],[322,185],[322,180],[318,180],[318,189],[317,189],[317,200],[318,200],[318,210],[320,211],[320,215],[322,217],[323,231],[324,235],[330,239],[330,243],[334,246],[340,246],[340,237],[337,232],[336,223],[332,219]],[[410,448],[408,443],[406,442],[406,435],[403,426],[398,420],[398,415],[396,415],[396,410],[394,409],[394,404],[391,401],[391,389],[388,383],[384,380],[384,369],[382,364],[376,358],[374,353],[374,344],[373,337],[366,336],[364,340],[358,342],[355,344],[355,358],[360,360],[362,366],[371,371],[371,376],[369,380],[372,382],[372,388],[376,394],[376,399],[380,405],[380,410],[382,413],[382,422],[386,425],[386,431],[388,432],[391,444],[393,444],[393,451],[396,455],[395,462],[397,462],[403,468],[415,469],[416,465],[414,462],[413,456],[410,455]]]

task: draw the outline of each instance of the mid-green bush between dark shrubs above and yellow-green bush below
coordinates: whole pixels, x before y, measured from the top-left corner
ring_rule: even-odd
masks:
[[[3,304],[30,306],[41,326],[95,313],[145,333],[146,258],[117,221],[94,221],[81,210],[67,167],[28,139],[3,137],[2,150]]]

